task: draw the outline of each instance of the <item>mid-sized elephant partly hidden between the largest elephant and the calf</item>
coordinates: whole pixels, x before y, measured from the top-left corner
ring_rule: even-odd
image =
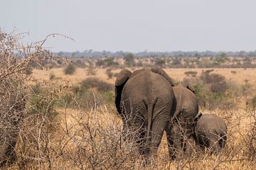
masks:
[[[180,159],[183,154],[189,156],[193,152],[193,120],[198,114],[198,100],[189,84],[174,86],[173,89],[177,105],[166,132],[169,133],[169,157]]]

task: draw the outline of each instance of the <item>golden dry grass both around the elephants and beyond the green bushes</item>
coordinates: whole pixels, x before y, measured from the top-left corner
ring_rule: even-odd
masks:
[[[184,72],[187,70],[191,69],[165,69],[171,77],[180,80],[186,77]],[[201,72],[201,69],[192,70]],[[233,75],[230,70],[215,69],[214,72],[225,75],[227,79],[237,80],[238,84],[243,84],[244,82],[240,78],[244,77],[245,79],[254,71],[254,69],[235,69],[237,74]],[[45,73],[41,75],[43,72]],[[60,77],[55,80],[59,83],[67,80],[70,84],[77,84],[88,77],[85,69],[78,69],[73,76],[65,76],[62,69],[51,69],[50,72],[54,72],[56,77]],[[50,72],[34,70],[33,76],[41,81],[47,80]],[[97,77],[113,84],[114,79],[108,79],[105,72],[105,69],[97,69],[97,74],[90,77]],[[115,69],[113,72],[119,72],[119,69]],[[244,98],[237,101],[237,103],[243,102]],[[250,146],[247,142],[249,139],[247,135],[250,135],[248,130],[252,128],[251,123],[255,122],[253,111],[247,111],[245,108],[225,111],[203,110],[203,113],[220,115],[228,124],[228,145],[220,157],[199,154],[199,156],[193,155],[188,159],[169,162],[167,142],[164,136],[158,150],[158,157],[152,160],[149,166],[143,166],[142,158],[139,157],[136,149],[129,147],[131,144],[122,145],[122,140],[120,140],[122,120],[115,114],[115,111],[107,108],[109,107],[101,106],[97,110],[92,108],[87,111],[83,111],[79,107],[76,109],[58,108],[61,126],[57,132],[58,135],[54,137],[53,141],[50,141],[52,149],[57,150],[50,156],[52,169],[255,169],[255,160],[248,158]],[[95,151],[92,154],[93,147],[95,147]],[[62,148],[62,153],[57,154],[60,152],[58,151],[60,148]],[[125,152],[129,150],[129,154],[125,154],[124,150]],[[48,167],[46,164],[48,163],[44,162],[37,168],[45,169]]]

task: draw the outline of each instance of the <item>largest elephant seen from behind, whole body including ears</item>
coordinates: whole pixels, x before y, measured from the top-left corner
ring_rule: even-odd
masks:
[[[147,160],[156,153],[176,108],[171,84],[171,79],[160,68],[139,69],[133,73],[122,69],[115,82],[115,104],[124,123],[124,136],[134,137],[140,154]]]

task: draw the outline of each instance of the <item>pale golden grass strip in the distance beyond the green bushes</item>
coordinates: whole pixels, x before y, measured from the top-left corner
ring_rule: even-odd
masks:
[[[139,68],[134,68],[139,69]],[[112,69],[113,73],[120,72],[121,69]],[[132,69],[131,69],[132,70]],[[186,74],[185,72],[198,72],[198,74],[201,74],[202,71],[206,71],[207,69],[164,69],[164,71],[173,79],[176,81],[182,81]],[[236,72],[236,74],[233,74],[232,71]],[[252,85],[256,83],[256,75],[255,75],[256,69],[214,69],[214,73],[223,75],[228,80],[233,80],[237,82],[238,84],[244,84],[246,80],[248,80]],[[63,68],[54,68],[54,69],[36,69],[33,70],[33,77],[40,80],[48,80],[50,72],[53,72],[56,77],[60,77],[60,81],[70,81],[72,84],[76,84],[82,79],[86,79],[87,77],[97,77],[99,79],[103,79],[107,82],[110,82],[114,84],[114,77],[112,79],[108,79],[108,76],[106,74],[107,69],[96,69],[96,75],[95,76],[87,76],[86,69],[78,68],[75,74],[72,76],[65,76],[63,74]]]

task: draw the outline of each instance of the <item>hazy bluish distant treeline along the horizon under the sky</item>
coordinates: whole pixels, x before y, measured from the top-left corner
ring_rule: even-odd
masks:
[[[125,55],[131,52],[110,52],[110,51],[93,51],[85,50],[83,52],[58,52],[58,55],[63,57],[124,57]],[[256,57],[255,51],[237,51],[237,52],[213,52],[213,51],[204,51],[204,52],[183,52],[183,51],[174,51],[174,52],[134,52],[132,53],[135,57],[218,57],[220,55],[225,55],[227,57]]]

